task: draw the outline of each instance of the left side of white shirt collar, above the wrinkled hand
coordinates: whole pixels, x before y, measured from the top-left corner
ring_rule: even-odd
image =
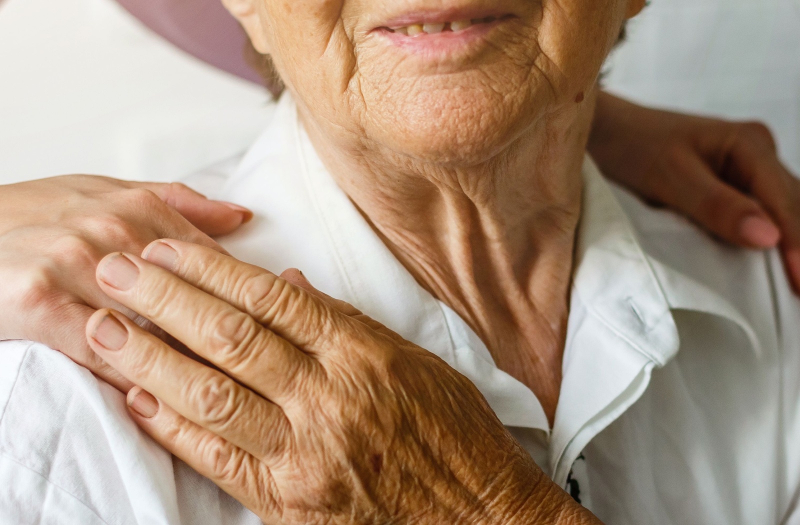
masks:
[[[287,94],[222,198],[255,213],[254,221],[220,239],[235,257],[272,271],[302,269],[315,287],[465,375],[503,424],[547,431],[534,393],[494,365],[469,325],[416,282],[337,186]]]

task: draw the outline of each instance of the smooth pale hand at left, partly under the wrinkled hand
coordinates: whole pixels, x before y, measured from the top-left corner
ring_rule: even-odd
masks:
[[[249,217],[181,184],[68,175],[0,186],[0,339],[45,343],[125,388],[84,336],[97,308],[119,307],[98,288],[97,263],[162,237],[218,247],[209,235]]]

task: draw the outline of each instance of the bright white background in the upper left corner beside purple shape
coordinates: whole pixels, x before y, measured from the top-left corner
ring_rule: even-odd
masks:
[[[267,100],[110,0],[0,3],[2,182],[180,178],[246,148]]]

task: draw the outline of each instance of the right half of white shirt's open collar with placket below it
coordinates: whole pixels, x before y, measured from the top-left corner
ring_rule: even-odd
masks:
[[[561,397],[550,437],[557,483],[590,440],[639,399],[652,370],[674,359],[680,339],[673,311],[720,315],[757,341],[722,296],[642,247],[637,225],[588,157],[583,177]]]

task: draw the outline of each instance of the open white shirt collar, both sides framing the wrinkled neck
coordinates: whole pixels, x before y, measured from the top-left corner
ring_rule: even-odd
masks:
[[[588,158],[583,175],[553,437],[558,455],[581,427],[610,414],[609,406],[630,391],[646,363],[662,365],[675,355],[678,333],[670,309],[708,302],[687,294],[692,285],[686,279],[642,250],[625,211]],[[466,375],[502,423],[549,431],[533,392],[500,371],[474,331],[419,286],[374,234],[322,165],[288,95],[231,178],[225,198],[256,213],[256,220],[222,239],[232,254],[273,271],[301,268],[322,291],[357,305]],[[598,380],[587,382],[592,375]],[[626,406],[614,405],[616,412]]]

